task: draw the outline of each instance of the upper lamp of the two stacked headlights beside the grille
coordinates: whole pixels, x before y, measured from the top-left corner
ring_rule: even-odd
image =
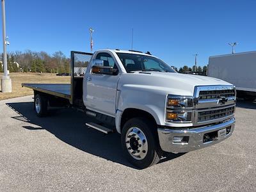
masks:
[[[167,108],[192,108],[193,97],[168,95]]]

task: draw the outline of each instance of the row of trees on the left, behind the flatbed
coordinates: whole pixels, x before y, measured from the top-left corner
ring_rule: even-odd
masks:
[[[1,54],[3,61],[3,54]],[[3,72],[3,62],[0,70]],[[70,58],[61,51],[48,54],[45,51],[15,51],[7,54],[7,68],[10,72],[52,72],[70,73]]]

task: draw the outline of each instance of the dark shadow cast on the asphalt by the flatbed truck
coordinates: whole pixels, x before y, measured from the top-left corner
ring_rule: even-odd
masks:
[[[86,122],[92,122],[92,120],[84,113],[74,111],[74,109],[61,109],[51,113],[50,116],[38,118],[33,111],[33,102],[7,103],[6,105],[18,114],[12,118],[31,124],[22,126],[24,129],[31,131],[45,129],[54,134],[56,138],[79,150],[137,169],[123,156],[120,134],[105,135],[87,128]],[[179,156],[182,154],[168,154],[159,163]]]

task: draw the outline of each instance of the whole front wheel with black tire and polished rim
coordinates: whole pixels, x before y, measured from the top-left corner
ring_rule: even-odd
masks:
[[[128,161],[138,168],[147,168],[160,160],[154,129],[146,118],[131,118],[124,124],[122,148]]]

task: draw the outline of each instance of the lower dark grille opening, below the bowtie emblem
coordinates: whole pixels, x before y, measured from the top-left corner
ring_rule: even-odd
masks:
[[[197,116],[197,122],[205,122],[209,120],[216,120],[219,118],[227,117],[230,115],[233,115],[235,111],[235,107],[227,107],[227,108],[222,108],[222,109],[211,109],[208,111],[201,111],[198,112]]]

